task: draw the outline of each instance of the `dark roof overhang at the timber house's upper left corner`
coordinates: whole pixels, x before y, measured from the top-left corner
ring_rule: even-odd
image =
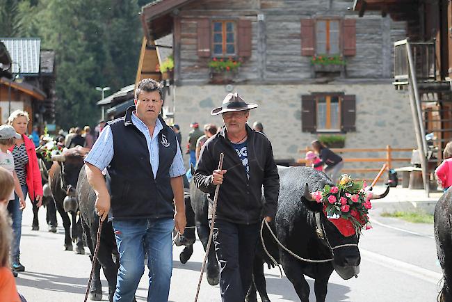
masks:
[[[172,18],[177,8],[193,0],[159,0],[141,8],[140,19],[148,41],[159,39],[172,32]]]

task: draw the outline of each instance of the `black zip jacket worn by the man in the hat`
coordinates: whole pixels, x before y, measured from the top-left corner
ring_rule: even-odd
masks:
[[[225,154],[223,170],[227,170],[227,173],[218,193],[216,218],[241,224],[257,223],[262,214],[275,218],[280,177],[273,159],[271,143],[264,134],[255,132],[248,125],[246,131],[249,180],[239,156],[226,137],[225,127],[204,143],[193,179],[201,191],[208,193],[209,218],[212,216],[211,208],[216,188],[212,184],[212,173],[218,169],[221,152]],[[261,201],[262,186],[265,204]]]

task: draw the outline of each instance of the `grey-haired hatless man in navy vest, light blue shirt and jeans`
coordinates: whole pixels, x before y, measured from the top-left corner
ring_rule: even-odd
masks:
[[[145,253],[150,270],[147,301],[168,301],[172,230],[183,234],[186,226],[185,168],[176,134],[159,116],[162,104],[160,84],[140,81],[135,106],[108,123],[85,159],[97,214],[102,221],[107,215],[112,221],[120,253],[113,301],[134,299]]]

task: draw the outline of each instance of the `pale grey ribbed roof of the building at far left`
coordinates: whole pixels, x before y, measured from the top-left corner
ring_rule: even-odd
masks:
[[[40,65],[40,38],[0,38],[13,59],[13,74],[38,75]]]

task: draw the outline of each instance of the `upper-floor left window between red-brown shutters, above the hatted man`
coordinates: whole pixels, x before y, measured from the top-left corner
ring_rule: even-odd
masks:
[[[234,56],[236,54],[236,48],[235,22],[212,22],[213,56]]]

